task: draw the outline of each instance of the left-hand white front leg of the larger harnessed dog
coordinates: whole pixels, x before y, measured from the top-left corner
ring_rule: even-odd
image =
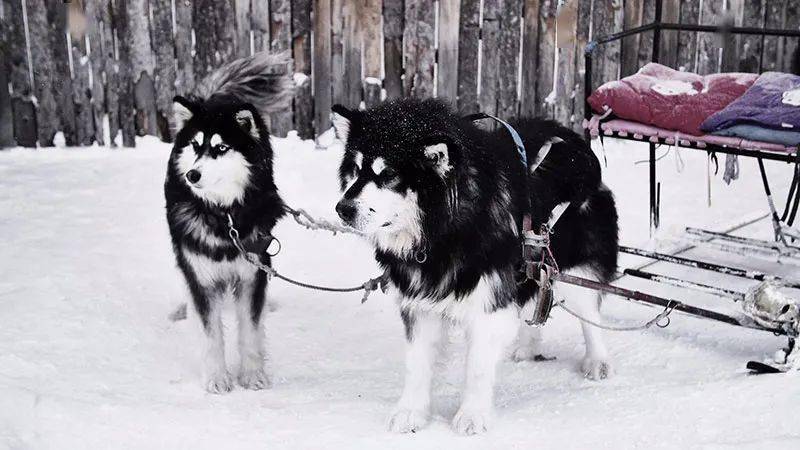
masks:
[[[406,374],[403,394],[389,418],[397,433],[419,430],[428,423],[433,367],[442,338],[442,318],[437,313],[403,312],[406,327]]]

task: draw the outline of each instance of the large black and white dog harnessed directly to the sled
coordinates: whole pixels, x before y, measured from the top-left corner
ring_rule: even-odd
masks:
[[[452,321],[468,338],[466,386],[452,425],[462,434],[483,432],[506,349],[519,334],[514,356],[538,354],[536,330],[523,323],[520,331],[536,291],[520,274],[523,215],[532,213],[538,230],[556,205],[569,202],[551,237],[561,270],[607,281],[617,268],[617,213],[600,164],[580,136],[551,121],[513,122],[531,165],[552,146],[531,171],[506,129],[483,131],[437,100],[397,100],[366,111],[337,105],[333,112],[345,142],[336,211],[374,244],[406,329],[405,388],[389,427],[409,432],[427,422],[437,343],[443,323]],[[599,320],[595,291],[558,283],[554,290],[571,309]],[[582,325],[584,374],[610,376],[598,329]]]

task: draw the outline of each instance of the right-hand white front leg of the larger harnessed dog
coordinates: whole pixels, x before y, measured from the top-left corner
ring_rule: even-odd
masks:
[[[497,363],[514,342],[519,327],[516,307],[480,311],[467,325],[467,376],[461,407],[453,418],[459,434],[487,431],[492,415]]]

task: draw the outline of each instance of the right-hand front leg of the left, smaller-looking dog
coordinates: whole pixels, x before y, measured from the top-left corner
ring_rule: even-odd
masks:
[[[266,298],[267,276],[257,271],[236,288],[236,318],[239,323],[239,384],[246,389],[265,389],[270,380],[264,371],[266,351],[261,315]]]

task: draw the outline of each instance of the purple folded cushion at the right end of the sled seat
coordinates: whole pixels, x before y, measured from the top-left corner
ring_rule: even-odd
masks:
[[[706,120],[704,131],[751,124],[776,130],[800,130],[800,77],[767,72],[722,111]]]

